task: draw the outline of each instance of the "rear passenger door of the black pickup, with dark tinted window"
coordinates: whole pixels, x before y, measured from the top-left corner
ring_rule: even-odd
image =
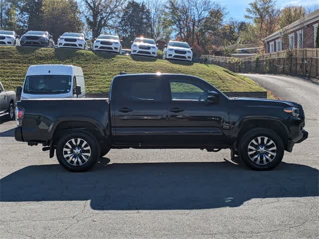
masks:
[[[161,76],[117,77],[111,94],[112,133],[116,142],[165,142],[167,85]]]

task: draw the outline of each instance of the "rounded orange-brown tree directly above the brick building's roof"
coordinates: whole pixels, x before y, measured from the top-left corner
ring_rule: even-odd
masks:
[[[303,6],[286,6],[281,10],[279,16],[279,26],[280,28],[284,28],[289,24],[297,21],[298,19],[304,17],[306,14],[306,10]]]

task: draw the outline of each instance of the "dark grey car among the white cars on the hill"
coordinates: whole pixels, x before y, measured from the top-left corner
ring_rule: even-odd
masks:
[[[21,36],[20,45],[54,48],[54,40],[47,31],[28,31]]]

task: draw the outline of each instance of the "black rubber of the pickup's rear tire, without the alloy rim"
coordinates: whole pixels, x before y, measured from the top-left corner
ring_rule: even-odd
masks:
[[[69,164],[64,156],[63,156],[63,147],[67,141],[69,141],[72,138],[83,138],[89,146],[91,147],[91,156],[89,160],[81,165],[81,166],[73,166]],[[61,137],[61,139],[57,143],[56,147],[56,157],[58,159],[58,162],[67,170],[71,172],[85,172],[93,167],[93,165],[97,162],[97,160],[100,158],[100,146],[97,143],[97,140],[95,137],[89,133],[89,132],[83,132],[83,131],[71,131],[64,136]]]

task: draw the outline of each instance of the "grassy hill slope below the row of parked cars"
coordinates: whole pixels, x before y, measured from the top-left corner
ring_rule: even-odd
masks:
[[[106,52],[32,47],[0,47],[0,82],[6,90],[22,85],[35,64],[72,64],[83,68],[88,93],[108,92],[112,78],[128,73],[183,73],[198,76],[221,91],[265,91],[247,77],[215,65],[122,56]]]

